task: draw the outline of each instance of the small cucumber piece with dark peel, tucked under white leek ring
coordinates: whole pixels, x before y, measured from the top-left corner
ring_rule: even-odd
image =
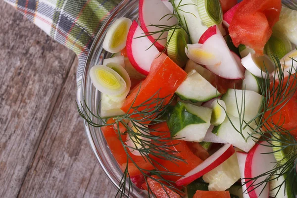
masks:
[[[249,90],[258,94],[266,93],[267,87],[269,87],[269,79],[263,79],[252,75],[248,70],[245,73],[245,79],[243,80],[243,90]],[[261,91],[262,89],[262,91]]]

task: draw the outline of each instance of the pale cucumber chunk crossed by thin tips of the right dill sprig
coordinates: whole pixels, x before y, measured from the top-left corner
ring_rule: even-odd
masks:
[[[248,122],[261,111],[263,96],[249,90],[228,89],[221,100],[225,102],[226,111],[230,115],[239,117],[238,111],[243,109],[241,118]]]

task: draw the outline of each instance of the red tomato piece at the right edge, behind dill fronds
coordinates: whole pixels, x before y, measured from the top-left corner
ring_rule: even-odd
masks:
[[[287,81],[288,81],[288,77],[284,79],[283,85],[285,85]],[[295,79],[295,76],[291,76],[289,88],[296,87],[296,83],[297,83],[297,79]],[[276,83],[275,87],[278,85],[279,84]],[[285,89],[285,87],[283,89]],[[271,100],[269,105],[272,105]],[[270,114],[275,113],[272,117],[270,117],[270,119],[267,120],[266,127],[268,127],[269,129],[269,125],[270,125],[269,123],[273,122],[274,124],[282,126],[286,130],[291,130],[290,133],[297,139],[297,122],[296,122],[297,102],[296,101],[297,101],[297,92],[294,93],[294,95],[289,101],[284,101],[282,104],[276,106],[272,111],[265,112],[264,119],[267,119]],[[276,102],[274,103],[274,105],[276,105]]]

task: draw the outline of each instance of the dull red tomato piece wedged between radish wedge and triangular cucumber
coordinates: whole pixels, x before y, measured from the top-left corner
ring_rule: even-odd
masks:
[[[190,73],[193,69],[195,69],[208,82],[215,81],[215,76],[216,76],[215,74],[213,74],[208,69],[205,69],[204,67],[194,62],[193,60],[189,59],[185,67],[185,72]]]

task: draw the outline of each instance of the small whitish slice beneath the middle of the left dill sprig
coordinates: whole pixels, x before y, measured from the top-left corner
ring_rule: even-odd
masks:
[[[141,134],[148,135],[147,132],[144,132],[143,130],[141,130],[141,128],[144,126],[148,128],[148,125],[141,126],[138,123],[135,123],[135,125],[133,125],[131,122],[128,123],[128,126],[134,131],[135,136],[137,136],[138,139],[141,139],[144,141],[150,141],[150,139],[142,137],[141,135]],[[140,135],[137,135],[137,134],[140,134]],[[141,153],[138,149],[143,148],[143,146],[137,142],[134,136],[131,136],[130,134],[127,135],[126,145],[129,147],[129,150],[132,152],[132,154],[141,156]]]

